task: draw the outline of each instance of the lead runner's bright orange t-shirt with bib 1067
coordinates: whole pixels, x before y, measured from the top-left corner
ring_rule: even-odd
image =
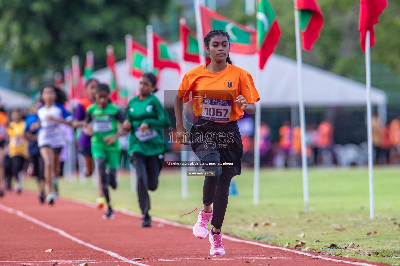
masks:
[[[243,95],[248,104],[260,100],[252,76],[228,63],[224,70],[212,73],[206,69],[208,64],[210,62],[185,74],[178,97],[184,102],[192,100],[194,114],[203,119],[225,123],[242,118],[244,112],[234,102],[236,97]]]

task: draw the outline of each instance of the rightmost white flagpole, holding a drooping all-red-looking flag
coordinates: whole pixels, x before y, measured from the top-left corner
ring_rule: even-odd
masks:
[[[365,36],[365,74],[367,85],[367,135],[368,135],[368,175],[370,183],[370,219],[375,217],[374,203],[374,162],[372,161],[372,110],[371,110],[371,57],[370,31]]]

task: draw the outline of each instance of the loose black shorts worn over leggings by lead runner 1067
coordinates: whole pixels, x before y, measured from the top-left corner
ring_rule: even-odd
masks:
[[[200,161],[210,153],[218,154],[221,161],[235,161],[236,166],[222,167],[220,177],[232,178],[242,171],[243,144],[236,121],[220,123],[200,117],[190,130],[193,152]]]

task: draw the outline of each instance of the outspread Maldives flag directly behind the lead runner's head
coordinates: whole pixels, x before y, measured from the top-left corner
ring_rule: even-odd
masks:
[[[202,39],[212,30],[224,30],[230,36],[232,53],[256,53],[257,33],[255,29],[240,25],[202,5],[200,5],[200,18],[203,30]]]

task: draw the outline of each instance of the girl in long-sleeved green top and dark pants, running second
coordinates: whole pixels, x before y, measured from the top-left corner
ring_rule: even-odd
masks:
[[[171,126],[166,110],[153,95],[157,91],[156,83],[156,76],[152,73],[140,77],[139,95],[130,100],[123,124],[124,130],[131,131],[128,154],[136,169],[139,205],[144,215],[142,227],[151,227],[147,191],[157,188],[167,150],[161,130]]]

